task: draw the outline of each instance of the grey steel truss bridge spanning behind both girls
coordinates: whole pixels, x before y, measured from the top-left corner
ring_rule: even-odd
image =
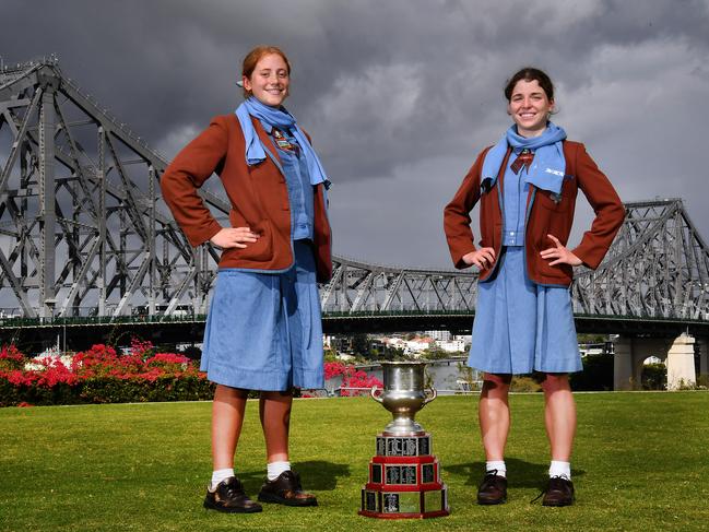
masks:
[[[2,68],[3,338],[67,330],[86,341],[131,330],[199,338],[218,251],[191,248],[175,224],[159,196],[166,165],[56,58]],[[228,202],[201,193],[228,224]],[[626,208],[604,262],[580,272],[572,286],[579,331],[708,335],[709,248],[682,200]],[[470,329],[475,273],[343,257],[334,264],[321,286],[326,330]]]

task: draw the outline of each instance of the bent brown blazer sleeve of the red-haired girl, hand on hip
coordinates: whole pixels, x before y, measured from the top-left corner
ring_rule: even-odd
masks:
[[[222,229],[197,189],[221,167],[227,145],[227,127],[223,117],[216,117],[177,154],[161,179],[165,203],[194,247]]]

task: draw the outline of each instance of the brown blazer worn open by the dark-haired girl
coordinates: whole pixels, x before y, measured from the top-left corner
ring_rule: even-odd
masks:
[[[485,149],[477,156],[456,197],[444,211],[444,228],[448,247],[453,263],[459,269],[468,267],[463,262],[463,256],[476,250],[473,232],[470,228],[470,211],[478,201],[482,234],[478,244],[481,247],[494,248],[496,258],[499,257],[501,248],[503,212],[499,198],[505,187],[505,168],[511,150],[507,152],[497,181],[489,191],[483,193],[481,170],[488,150],[489,147]],[[529,213],[524,234],[527,273],[531,281],[542,285],[569,286],[571,284],[574,269],[568,264],[548,265],[550,261],[542,259],[540,251],[553,246],[547,234],[554,235],[566,246],[571,232],[579,188],[595,212],[591,229],[583,234],[581,244],[571,250],[587,267],[592,269],[599,267],[625,217],[621,198],[607,177],[586,152],[583,144],[565,141],[564,157],[566,177],[562,186],[560,201],[555,201],[551,192],[534,186],[531,187],[527,199]],[[487,280],[496,267],[497,260],[491,268],[481,271],[480,280]]]

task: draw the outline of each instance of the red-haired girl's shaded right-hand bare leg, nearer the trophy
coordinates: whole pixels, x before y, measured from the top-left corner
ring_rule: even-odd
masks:
[[[288,460],[288,431],[291,428],[291,405],[293,394],[287,392],[261,392],[259,415],[268,463]]]

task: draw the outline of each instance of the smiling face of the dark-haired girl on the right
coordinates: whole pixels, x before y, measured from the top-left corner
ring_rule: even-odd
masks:
[[[546,129],[548,115],[554,110],[550,99],[536,80],[520,80],[515,84],[507,113],[522,137],[539,137]]]

